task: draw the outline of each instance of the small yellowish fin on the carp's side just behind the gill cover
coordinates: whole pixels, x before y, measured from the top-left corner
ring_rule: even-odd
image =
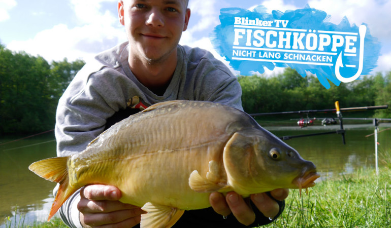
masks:
[[[189,177],[189,186],[198,193],[232,191],[231,186],[226,183],[214,183],[207,178],[202,177],[197,170],[191,172]]]

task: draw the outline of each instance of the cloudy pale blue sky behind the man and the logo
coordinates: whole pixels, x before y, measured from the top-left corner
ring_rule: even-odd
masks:
[[[88,61],[97,53],[126,41],[124,27],[118,21],[117,1],[0,0],[0,43],[13,51],[42,56],[48,62],[64,58]],[[357,26],[366,23],[371,35],[381,44],[381,56],[371,73],[391,70],[391,0],[189,0],[190,21],[180,44],[207,49],[224,61],[209,39],[214,27],[220,24],[220,9],[251,10],[260,5],[269,13],[303,9],[308,5],[326,12],[334,24],[339,24],[344,16]],[[282,70],[277,67],[273,72],[266,72]]]

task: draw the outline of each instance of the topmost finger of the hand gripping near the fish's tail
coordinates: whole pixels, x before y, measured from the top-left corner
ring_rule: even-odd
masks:
[[[121,191],[111,185],[91,184],[80,190],[80,196],[88,200],[119,200]]]

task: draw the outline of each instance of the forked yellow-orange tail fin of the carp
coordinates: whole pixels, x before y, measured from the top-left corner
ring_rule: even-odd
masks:
[[[61,205],[78,189],[69,185],[67,161],[70,157],[57,157],[32,163],[28,169],[38,176],[60,184],[54,199],[48,221]]]

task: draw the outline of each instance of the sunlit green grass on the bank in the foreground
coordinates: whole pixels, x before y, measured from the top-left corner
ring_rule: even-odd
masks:
[[[262,227],[391,227],[391,151],[379,159],[374,169],[325,179],[303,191],[290,191],[282,215]],[[67,227],[59,218],[24,225],[6,218],[6,227]]]

